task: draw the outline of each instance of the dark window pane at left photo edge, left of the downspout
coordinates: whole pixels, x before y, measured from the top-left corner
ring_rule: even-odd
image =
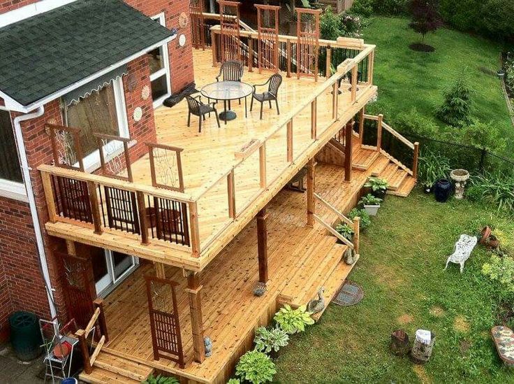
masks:
[[[0,178],[23,183],[13,125],[8,111],[0,110]]]

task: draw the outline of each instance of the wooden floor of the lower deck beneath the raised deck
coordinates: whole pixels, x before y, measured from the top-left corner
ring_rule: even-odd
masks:
[[[378,160],[377,160],[378,163]],[[344,183],[344,168],[328,164],[316,166],[316,192],[340,211],[355,205],[362,185],[374,171],[353,170]],[[166,278],[179,283],[177,304],[186,367],[168,360],[154,360],[145,273],[155,274],[152,264],[142,264],[105,299],[105,315],[110,340],[102,353],[177,374],[196,382],[225,382],[237,359],[251,348],[254,329],[267,325],[280,304],[301,305],[325,287],[327,303],[353,266],[342,261],[346,246],[318,222],[306,225],[307,194],[282,190],[267,206],[267,246],[270,280],[263,297],[255,297],[258,281],[257,231],[251,222],[207,269],[201,273],[204,336],[210,337],[213,354],[202,364],[193,362],[193,340],[186,279],[182,269],[167,267]],[[337,217],[317,204],[316,213],[325,222]],[[92,381],[92,380],[91,380]]]

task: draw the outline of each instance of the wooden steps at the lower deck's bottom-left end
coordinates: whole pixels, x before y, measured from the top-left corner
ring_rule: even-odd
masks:
[[[135,384],[145,381],[154,368],[133,362],[102,350],[94,362],[91,374],[82,372],[80,380],[95,384]]]

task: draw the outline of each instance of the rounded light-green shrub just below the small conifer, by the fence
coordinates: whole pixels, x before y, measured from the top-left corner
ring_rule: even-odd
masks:
[[[471,124],[462,128],[460,140],[463,144],[492,152],[501,152],[506,148],[504,134],[497,125],[480,122],[477,119],[471,119]]]

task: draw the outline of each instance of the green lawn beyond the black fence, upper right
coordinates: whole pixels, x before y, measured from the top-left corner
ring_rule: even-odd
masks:
[[[495,75],[501,45],[441,28],[425,39],[435,52],[415,52],[409,44],[419,41],[420,35],[408,23],[406,18],[373,17],[364,30],[365,41],[376,44],[374,83],[379,86],[379,101],[369,111],[384,113],[387,120],[415,107],[442,131],[450,131],[453,128],[436,119],[434,110],[442,103],[446,87],[465,70],[476,91],[473,116],[496,125],[505,134],[506,153],[511,153],[514,127]]]

